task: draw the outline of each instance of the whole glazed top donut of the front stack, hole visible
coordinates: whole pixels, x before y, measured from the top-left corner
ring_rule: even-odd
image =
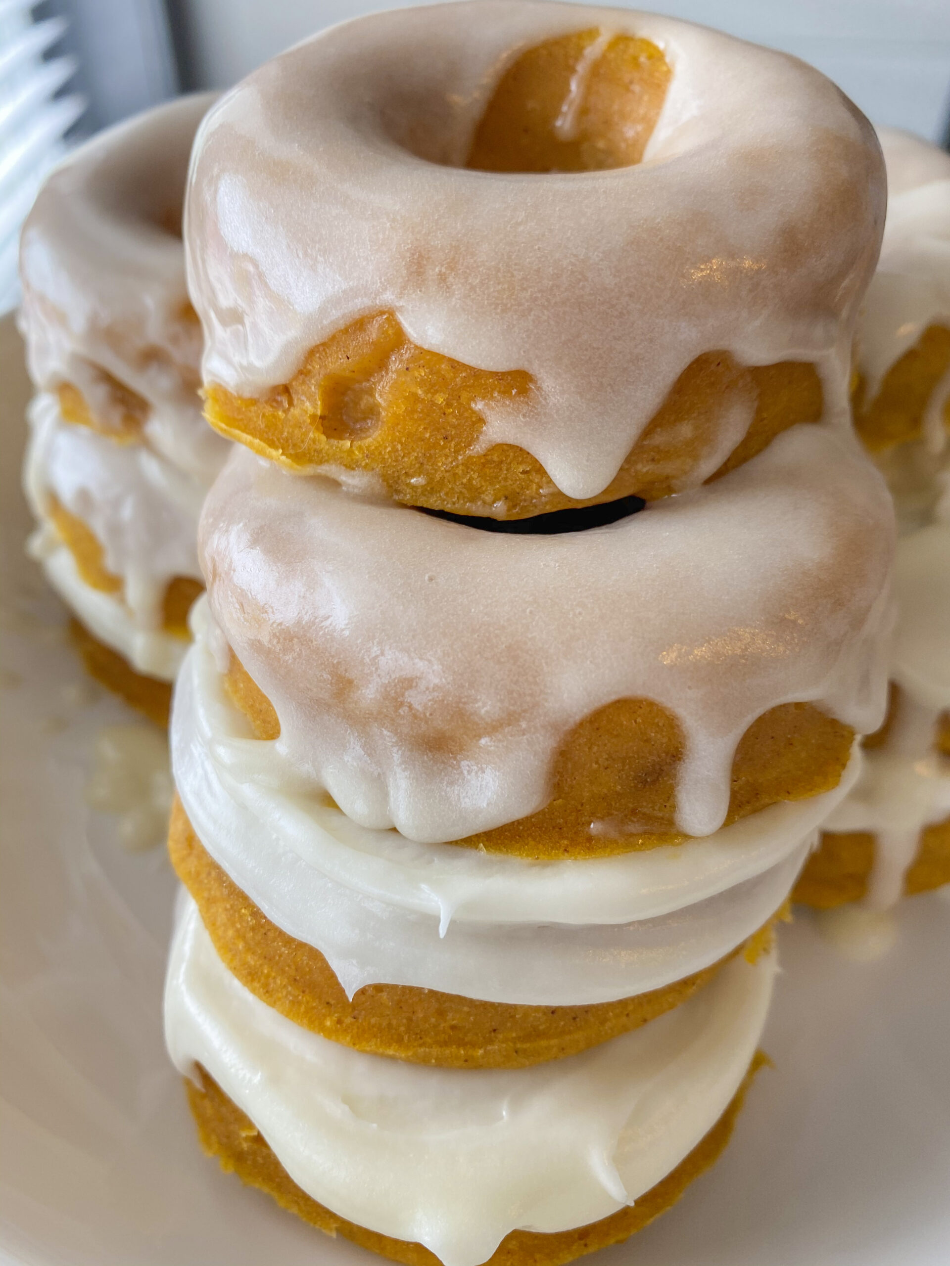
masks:
[[[459,514],[665,496],[844,422],[883,215],[866,120],[780,54],[571,5],[347,23],[201,129],[208,418]]]

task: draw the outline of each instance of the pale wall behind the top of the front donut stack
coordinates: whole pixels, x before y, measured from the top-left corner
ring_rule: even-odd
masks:
[[[398,0],[167,0],[190,87],[227,87],[289,44]],[[622,0],[614,0],[622,3]],[[946,138],[950,0],[641,0],[785,49],[831,76],[874,123]],[[630,5],[630,8],[633,8]]]

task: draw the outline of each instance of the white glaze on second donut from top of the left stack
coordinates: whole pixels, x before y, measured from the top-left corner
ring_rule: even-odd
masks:
[[[155,632],[175,576],[201,580],[195,536],[205,486],[144,444],[117,444],[62,420],[54,395],[29,408],[24,482],[34,514],[58,501],[91,528],[105,567],[123,581],[137,628]]]

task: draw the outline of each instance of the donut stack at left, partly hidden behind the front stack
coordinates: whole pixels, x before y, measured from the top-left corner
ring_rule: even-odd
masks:
[[[212,95],[82,146],[23,229],[20,327],[38,394],[32,546],[92,676],[165,724],[200,594],[198,514],[228,446],[201,420],[181,206]]]

